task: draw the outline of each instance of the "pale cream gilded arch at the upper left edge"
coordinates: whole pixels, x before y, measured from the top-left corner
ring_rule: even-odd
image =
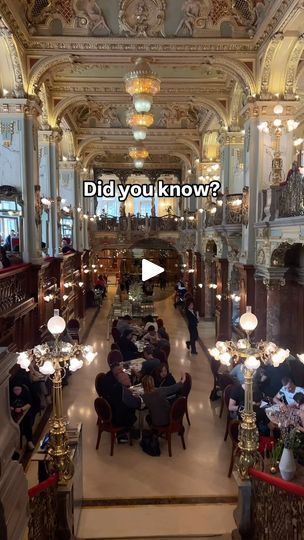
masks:
[[[0,20],[0,86],[11,96],[25,97],[21,58],[13,33]]]

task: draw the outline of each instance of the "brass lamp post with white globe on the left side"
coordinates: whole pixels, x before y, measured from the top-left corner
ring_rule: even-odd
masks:
[[[63,417],[62,379],[66,370],[74,372],[83,366],[83,359],[90,364],[97,353],[89,345],[79,345],[59,341],[65,330],[65,320],[54,310],[54,316],[48,321],[49,332],[54,336],[54,343],[43,343],[33,349],[21,352],[17,364],[29,371],[34,361],[40,373],[49,376],[53,383],[53,414],[50,419],[50,440],[47,447],[46,467],[49,474],[58,473],[61,483],[73,476],[73,463],[68,446],[66,420]],[[82,359],[83,358],[83,359]]]

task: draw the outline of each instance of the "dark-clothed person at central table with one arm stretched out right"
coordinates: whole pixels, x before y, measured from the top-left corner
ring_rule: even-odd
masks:
[[[185,380],[186,378],[183,376],[177,384],[155,388],[153,377],[146,375],[143,378],[144,394],[142,399],[149,409],[149,415],[147,416],[148,424],[153,424],[154,426],[167,426],[169,424],[171,404],[167,398],[180,392]]]

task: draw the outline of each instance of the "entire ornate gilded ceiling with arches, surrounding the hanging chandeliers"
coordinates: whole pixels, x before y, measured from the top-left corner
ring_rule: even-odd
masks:
[[[161,80],[147,166],[188,169],[210,158],[208,145],[218,155],[223,131],[242,131],[247,101],[304,97],[303,9],[303,0],[0,0],[15,39],[0,33],[15,58],[14,95],[39,96],[41,126],[69,128],[86,167],[131,163],[124,75],[145,57]]]

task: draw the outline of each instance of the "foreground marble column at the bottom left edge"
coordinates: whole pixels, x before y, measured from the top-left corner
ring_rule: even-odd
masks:
[[[19,447],[19,427],[12,420],[9,404],[10,370],[14,354],[0,348],[0,538],[22,540],[27,526],[27,480],[19,461],[12,455]]]

